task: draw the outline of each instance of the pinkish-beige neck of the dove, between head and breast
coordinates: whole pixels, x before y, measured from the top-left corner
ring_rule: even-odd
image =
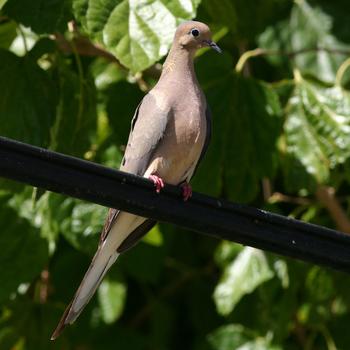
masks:
[[[194,53],[194,50],[173,46],[164,62],[161,79],[174,75],[197,82],[193,66]]]

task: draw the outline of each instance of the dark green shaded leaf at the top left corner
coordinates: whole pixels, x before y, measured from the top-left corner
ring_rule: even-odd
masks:
[[[4,13],[36,33],[64,31],[71,19],[71,0],[8,0]]]

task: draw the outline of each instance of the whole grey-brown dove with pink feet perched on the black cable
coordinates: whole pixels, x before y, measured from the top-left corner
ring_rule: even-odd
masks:
[[[152,180],[157,193],[165,184],[180,186],[185,201],[192,195],[189,181],[211,136],[211,114],[193,62],[203,47],[221,52],[206,24],[186,21],[178,26],[158,82],[136,108],[120,166],[121,171]],[[78,318],[118,256],[155,224],[153,219],[109,209],[96,254],[51,340]]]

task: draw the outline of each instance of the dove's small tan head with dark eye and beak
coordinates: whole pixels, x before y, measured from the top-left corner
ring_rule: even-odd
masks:
[[[201,47],[211,47],[221,53],[219,46],[212,40],[209,27],[201,22],[188,21],[180,24],[175,40],[183,49],[195,51]]]

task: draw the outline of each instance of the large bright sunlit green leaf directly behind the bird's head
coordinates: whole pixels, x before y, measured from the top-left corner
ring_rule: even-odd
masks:
[[[87,32],[133,72],[164,56],[180,21],[196,15],[199,0],[74,1]],[[86,17],[86,18],[84,18]]]

